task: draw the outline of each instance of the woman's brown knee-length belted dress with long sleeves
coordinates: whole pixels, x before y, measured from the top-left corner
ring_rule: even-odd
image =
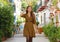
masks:
[[[23,36],[24,37],[35,37],[35,30],[33,24],[36,24],[35,15],[33,14],[33,17],[28,17],[27,14],[23,14],[21,17],[24,17],[26,19],[24,30],[23,30]]]

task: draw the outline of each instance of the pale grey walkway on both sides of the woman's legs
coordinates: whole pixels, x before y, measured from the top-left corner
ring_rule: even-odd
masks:
[[[14,37],[7,39],[4,42],[26,42],[26,39],[22,34],[16,34]],[[49,40],[44,36],[44,34],[37,34],[36,37],[33,38],[33,42],[49,42]]]

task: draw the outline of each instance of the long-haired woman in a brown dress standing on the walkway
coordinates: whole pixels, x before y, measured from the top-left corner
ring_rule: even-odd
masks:
[[[32,42],[32,38],[35,37],[34,26],[37,28],[32,7],[28,6],[26,9],[26,14],[21,14],[20,16],[26,19],[23,35],[26,37],[27,42]]]

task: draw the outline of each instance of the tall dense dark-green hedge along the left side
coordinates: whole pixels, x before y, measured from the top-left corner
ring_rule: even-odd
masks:
[[[0,6],[0,29],[4,31],[5,37],[12,36],[12,28],[14,23],[13,7],[12,5]]]

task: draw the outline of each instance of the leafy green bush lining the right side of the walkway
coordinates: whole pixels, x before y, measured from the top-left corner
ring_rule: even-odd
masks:
[[[43,27],[43,31],[49,38],[50,42],[57,42],[58,29],[56,26],[49,23]]]

